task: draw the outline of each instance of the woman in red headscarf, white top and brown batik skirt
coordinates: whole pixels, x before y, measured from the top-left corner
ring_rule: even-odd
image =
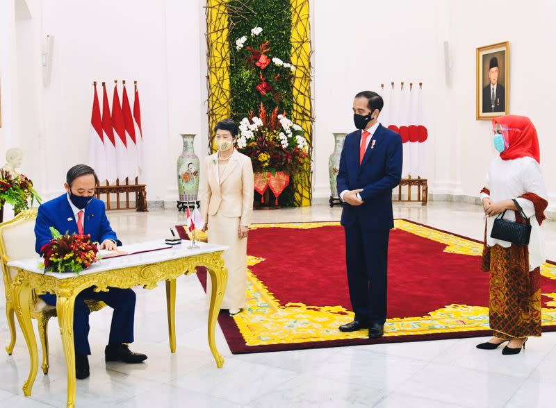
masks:
[[[493,119],[493,143],[500,157],[493,160],[481,198],[486,214],[483,271],[490,272],[489,323],[493,337],[477,345],[494,350],[508,341],[503,355],[525,348],[528,337],[541,335],[540,266],[545,261],[540,225],[548,202],[540,167],[537,130],[528,117]],[[529,245],[491,237],[494,219],[531,223]]]

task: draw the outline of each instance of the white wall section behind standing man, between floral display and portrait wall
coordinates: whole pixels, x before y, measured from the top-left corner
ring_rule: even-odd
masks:
[[[354,130],[353,96],[363,90],[378,92],[381,83],[389,86],[391,81],[397,87],[401,81],[406,86],[423,82],[432,159],[424,176],[436,180],[436,136],[448,124],[452,109],[450,104],[432,105],[450,97],[443,65],[449,11],[449,4],[441,0],[313,2],[315,196],[330,195],[332,133]],[[455,171],[438,176],[439,183],[448,185]]]

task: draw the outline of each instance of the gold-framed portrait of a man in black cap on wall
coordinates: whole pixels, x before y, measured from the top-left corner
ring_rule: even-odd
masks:
[[[509,113],[509,42],[477,48],[477,119]]]

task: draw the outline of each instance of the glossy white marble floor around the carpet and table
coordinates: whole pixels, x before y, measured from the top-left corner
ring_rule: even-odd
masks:
[[[325,206],[255,212],[255,222],[338,220]],[[122,241],[165,237],[183,221],[177,210],[147,214],[111,212]],[[482,238],[480,207],[461,203],[395,205],[395,216]],[[556,228],[543,226],[548,258],[556,259]],[[343,239],[343,237],[338,237]],[[137,289],[136,342],[145,364],[106,364],[111,311],[91,315],[91,376],[78,381],[77,407],[553,407],[556,395],[556,333],[531,339],[525,352],[502,356],[482,351],[482,339],[423,341],[231,355],[222,332],[218,369],[206,343],[204,292],[195,276],[179,280],[178,349],[167,346],[165,292]],[[3,302],[0,308],[3,309]],[[3,310],[1,316],[4,316]],[[3,346],[8,331],[0,318],[0,406],[65,406],[65,366],[57,322],[49,327],[51,368],[38,374],[33,395],[21,391],[28,371],[22,335],[12,356]]]

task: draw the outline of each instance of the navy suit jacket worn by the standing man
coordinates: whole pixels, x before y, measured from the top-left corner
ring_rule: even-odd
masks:
[[[389,230],[394,227],[392,189],[402,178],[402,137],[379,124],[361,164],[360,142],[361,130],[345,137],[336,182],[338,192],[363,189],[359,193],[363,204],[344,203],[341,223],[347,228],[358,222],[365,230]]]

